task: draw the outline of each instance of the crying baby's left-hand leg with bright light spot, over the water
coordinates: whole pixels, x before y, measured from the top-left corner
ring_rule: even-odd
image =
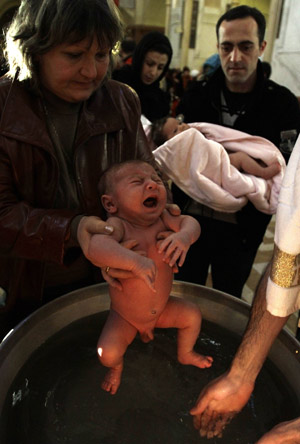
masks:
[[[109,367],[101,387],[114,395],[120,385],[123,356],[137,333],[129,322],[111,310],[98,340],[97,351],[102,365]]]

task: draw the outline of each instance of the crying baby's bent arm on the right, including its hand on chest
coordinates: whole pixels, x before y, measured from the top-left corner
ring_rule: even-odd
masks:
[[[160,243],[158,251],[159,253],[165,253],[164,261],[170,267],[173,267],[178,259],[178,265],[181,267],[185,261],[188,249],[200,236],[200,225],[191,216],[172,216],[167,211],[163,212],[162,220],[167,229],[174,231],[174,233]]]

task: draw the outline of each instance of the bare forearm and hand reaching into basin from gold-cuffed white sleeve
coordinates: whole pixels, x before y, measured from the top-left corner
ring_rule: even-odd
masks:
[[[271,315],[266,308],[268,266],[258,285],[242,342],[224,375],[208,384],[192,408],[201,436],[222,436],[222,430],[245,406],[267,354],[288,317]]]

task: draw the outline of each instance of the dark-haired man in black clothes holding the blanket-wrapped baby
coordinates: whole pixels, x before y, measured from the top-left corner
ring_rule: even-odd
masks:
[[[286,134],[296,139],[300,132],[297,98],[263,75],[259,57],[266,47],[265,26],[261,12],[249,6],[230,9],[220,17],[216,31],[221,67],[183,96],[177,114],[183,114],[185,122],[232,127],[265,137],[278,148]],[[204,285],[211,266],[213,287],[241,297],[271,217],[251,203],[237,213],[221,213],[176,187],[173,194],[182,211],[196,217],[202,227],[176,278]]]

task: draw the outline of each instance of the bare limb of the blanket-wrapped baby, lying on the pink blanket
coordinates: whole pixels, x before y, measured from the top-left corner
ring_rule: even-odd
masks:
[[[281,169],[279,162],[262,166],[257,160],[253,159],[253,157],[242,151],[230,153],[228,155],[231,165],[233,165],[237,170],[252,174],[253,176],[261,177],[262,179],[272,179],[272,177],[278,174]]]

